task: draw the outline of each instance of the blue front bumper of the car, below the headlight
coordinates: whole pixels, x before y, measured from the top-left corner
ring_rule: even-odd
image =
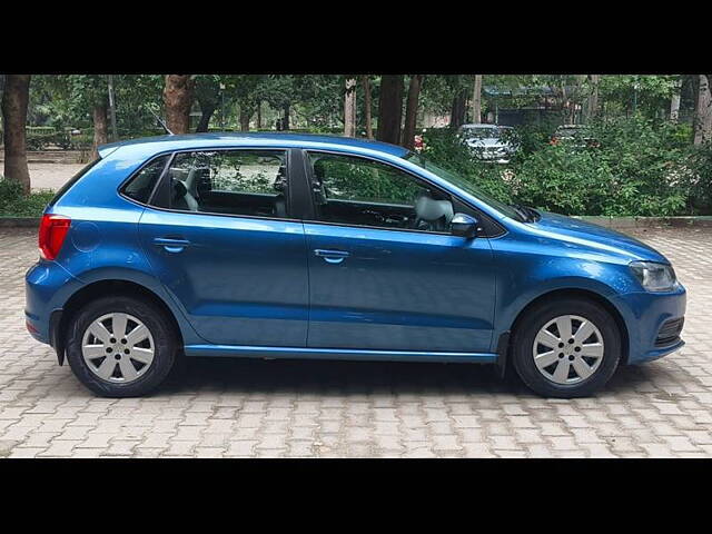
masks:
[[[680,334],[688,296],[682,285],[673,291],[629,293],[612,300],[625,320],[629,364],[652,362],[684,346]]]

